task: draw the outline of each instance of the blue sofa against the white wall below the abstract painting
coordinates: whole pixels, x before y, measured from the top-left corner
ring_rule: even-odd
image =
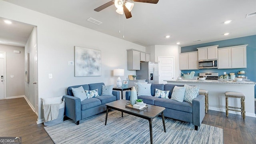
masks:
[[[104,112],[107,109],[106,103],[120,99],[119,92],[115,90],[112,92],[113,96],[102,96],[102,85],[105,84],[95,83],[68,87],[67,95],[63,96],[63,98],[65,98],[65,115],[74,120],[78,125],[80,120]],[[78,88],[80,86],[82,86],[84,90],[98,89],[99,96],[88,98],[81,102],[80,98],[74,97],[72,92],[72,88]]]

